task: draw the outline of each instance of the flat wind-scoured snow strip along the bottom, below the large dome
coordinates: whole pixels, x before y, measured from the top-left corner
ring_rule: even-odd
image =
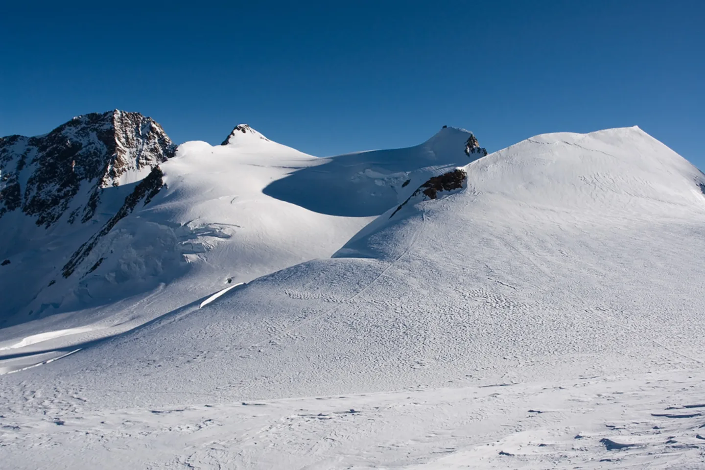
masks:
[[[700,469],[701,369],[1,418],[13,469]],[[68,405],[68,406],[66,406]]]

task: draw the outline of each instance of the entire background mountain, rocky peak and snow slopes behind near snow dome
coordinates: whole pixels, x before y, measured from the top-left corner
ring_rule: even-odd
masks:
[[[127,118],[131,125],[125,125]],[[30,159],[30,183],[41,173],[76,179],[78,189],[70,185],[75,191],[61,193],[37,216],[24,209],[34,192],[22,183],[24,205],[0,219],[0,257],[8,262],[0,270],[0,295],[8,299],[0,322],[15,325],[0,330],[0,347],[87,323],[92,333],[83,337],[95,340],[232,283],[329,257],[373,216],[407,197],[416,184],[410,182],[467,163],[462,149],[469,135],[445,128],[410,149],[319,159],[238,125],[219,146],[186,142],[173,151],[151,119],[112,111],[75,118],[44,137],[8,138],[43,153],[4,147],[4,180],[22,180],[18,175],[24,173],[13,168]],[[161,153],[152,151],[154,142],[165,142]],[[309,172],[322,176],[288,191],[280,187],[276,197],[268,194],[281,180]],[[42,194],[47,199],[53,193]],[[311,204],[295,204],[302,197]],[[315,201],[337,201],[345,211],[321,211]],[[73,217],[91,204],[90,218]],[[56,220],[44,228],[47,214]],[[80,342],[65,337],[52,336],[63,339],[51,345]]]

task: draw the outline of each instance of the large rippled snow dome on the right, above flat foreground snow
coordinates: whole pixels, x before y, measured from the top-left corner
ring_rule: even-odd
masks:
[[[637,128],[537,136],[410,183],[331,259],[42,373],[91,400],[133,377],[164,404],[701,366],[704,184]]]

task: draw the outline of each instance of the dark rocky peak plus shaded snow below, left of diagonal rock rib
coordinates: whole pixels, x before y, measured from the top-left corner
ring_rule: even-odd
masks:
[[[117,110],[0,138],[0,325],[61,307],[78,289],[59,283],[68,257],[175,149],[154,120]]]

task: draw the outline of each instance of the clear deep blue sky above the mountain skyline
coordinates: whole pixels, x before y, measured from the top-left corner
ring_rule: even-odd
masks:
[[[417,144],[442,125],[491,151],[639,125],[705,168],[704,4],[12,2],[0,135],[117,108],[176,142],[218,144],[249,123],[324,156]]]

